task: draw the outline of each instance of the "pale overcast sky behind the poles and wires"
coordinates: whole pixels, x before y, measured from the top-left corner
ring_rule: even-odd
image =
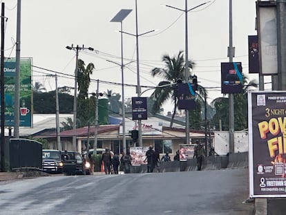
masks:
[[[17,32],[17,0],[5,3],[8,17],[5,32],[5,55],[15,57]],[[162,78],[151,77],[151,69],[162,67],[162,55],[178,55],[185,50],[184,0],[137,0],[139,37],[140,85],[156,86]],[[189,0],[191,9],[208,0]],[[236,57],[233,62],[242,62],[242,72],[250,80],[258,80],[258,74],[248,74],[248,35],[256,35],[256,1],[233,0],[233,46]],[[135,35],[135,0],[21,0],[21,57],[32,57],[33,83],[41,82],[48,91],[55,90],[55,78],[47,74],[58,73],[58,86],[74,86],[71,76],[75,73],[75,51],[65,47],[93,47],[98,52],[81,50],[79,59],[86,64],[95,64],[91,78],[90,93],[95,92],[99,80],[99,92],[112,90],[122,94],[120,23],[111,19],[121,9],[133,11],[123,21],[123,31]],[[211,102],[220,94],[220,62],[229,62],[229,0],[211,0],[209,3],[188,12],[189,59],[196,63],[192,74],[208,89]],[[136,37],[124,34],[124,64],[136,59]],[[137,96],[136,62],[124,68],[125,98]],[[267,88],[267,86],[266,86]],[[266,89],[265,88],[265,89]],[[142,91],[146,88],[142,88]],[[142,96],[149,96],[146,91]],[[172,111],[170,104],[165,112]]]

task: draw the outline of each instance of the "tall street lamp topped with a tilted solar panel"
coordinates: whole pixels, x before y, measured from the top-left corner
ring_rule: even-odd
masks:
[[[121,26],[121,77],[122,77],[122,147],[124,153],[126,153],[126,133],[125,133],[125,105],[124,105],[124,64],[123,64],[123,33],[122,33],[122,21],[131,13],[130,9],[122,9],[120,12],[111,19],[111,22],[120,22]]]

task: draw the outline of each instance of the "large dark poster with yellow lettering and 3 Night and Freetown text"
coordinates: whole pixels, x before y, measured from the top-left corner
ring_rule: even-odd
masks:
[[[286,197],[286,91],[248,93],[249,196]]]

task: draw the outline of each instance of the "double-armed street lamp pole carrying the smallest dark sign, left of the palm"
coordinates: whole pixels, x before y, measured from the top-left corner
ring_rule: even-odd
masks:
[[[131,33],[128,33],[128,32],[124,32],[124,31],[120,31],[126,35],[131,35],[131,36],[134,36],[136,37],[136,56],[137,56],[137,97],[140,97],[140,94],[141,94],[141,88],[140,88],[140,68],[139,68],[139,44],[138,44],[138,37],[142,36],[142,35],[146,35],[148,34],[149,32],[153,32],[155,30],[149,30],[147,32],[144,32],[140,35],[138,35],[138,15],[137,15],[137,0],[135,0],[135,19],[136,19],[136,34],[133,35]],[[138,144],[140,147],[142,147],[142,123],[141,123],[141,120],[138,120]]]

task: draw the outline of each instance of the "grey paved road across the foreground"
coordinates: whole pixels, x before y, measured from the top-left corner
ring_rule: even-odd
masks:
[[[250,215],[247,169],[0,182],[0,214]]]

